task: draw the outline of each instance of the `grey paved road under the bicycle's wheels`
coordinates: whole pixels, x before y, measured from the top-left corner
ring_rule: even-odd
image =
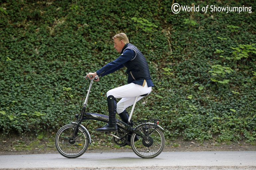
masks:
[[[162,152],[153,159],[143,159],[133,152],[84,153],[68,159],[60,154],[0,155],[3,168],[101,168],[148,166],[236,166],[256,167],[256,151]]]

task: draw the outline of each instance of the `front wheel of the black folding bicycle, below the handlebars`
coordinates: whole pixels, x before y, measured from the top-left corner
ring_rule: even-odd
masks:
[[[56,134],[55,146],[58,152],[66,158],[77,158],[81,156],[88,148],[89,134],[80,126],[75,138],[72,140],[74,125],[63,126]]]

